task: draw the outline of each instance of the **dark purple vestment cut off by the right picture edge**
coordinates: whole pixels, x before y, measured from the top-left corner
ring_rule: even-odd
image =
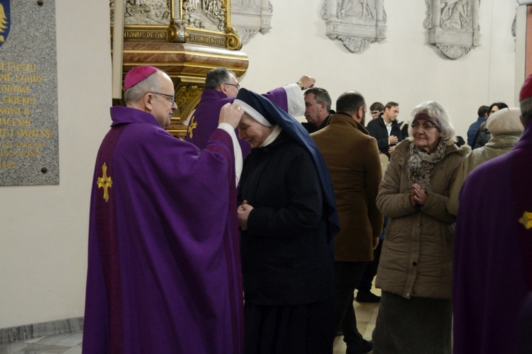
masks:
[[[532,122],[511,152],[470,173],[460,193],[453,264],[453,353],[514,353],[532,290]],[[529,222],[532,223],[532,220]]]

